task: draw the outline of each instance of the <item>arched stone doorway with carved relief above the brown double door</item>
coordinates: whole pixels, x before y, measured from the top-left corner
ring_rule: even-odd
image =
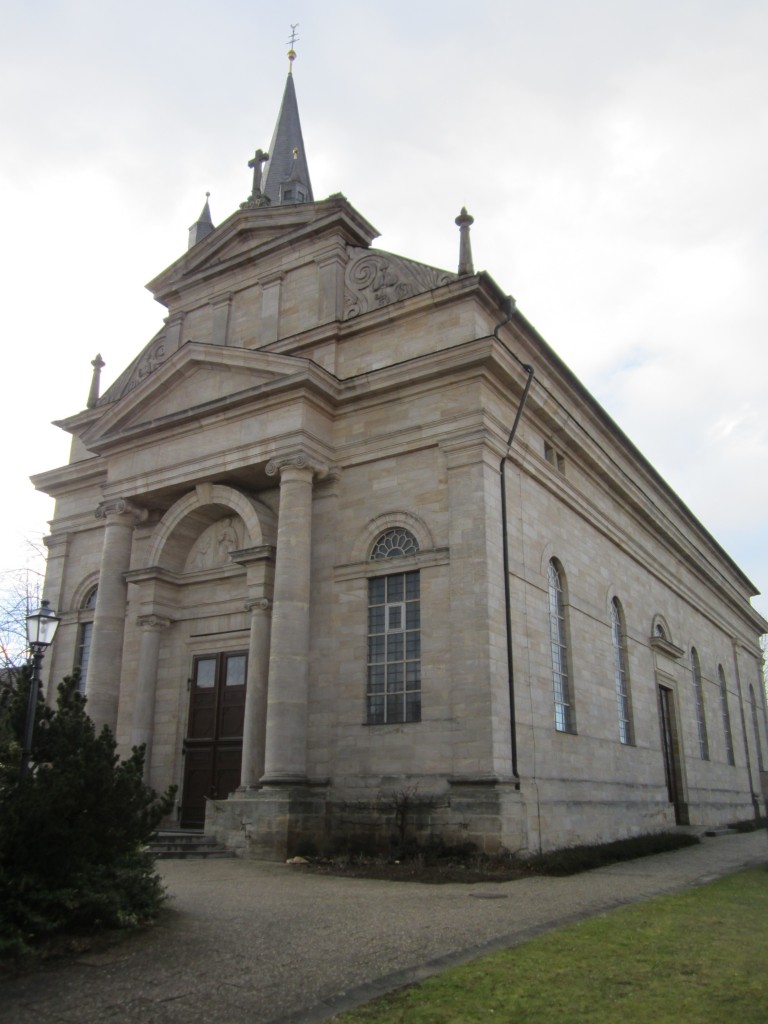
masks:
[[[181,784],[186,826],[202,826],[207,798],[240,785],[244,748],[254,745],[249,714],[263,718],[250,690],[268,663],[268,630],[254,630],[253,608],[269,596],[275,536],[276,517],[262,502],[201,484],[165,513],[147,568],[132,573],[142,631],[134,736],[167,751],[173,763],[163,775],[170,769]]]

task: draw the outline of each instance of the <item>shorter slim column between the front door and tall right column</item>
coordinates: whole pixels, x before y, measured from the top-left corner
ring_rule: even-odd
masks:
[[[272,602],[266,597],[261,597],[255,601],[248,601],[246,608],[251,612],[251,638],[248,644],[248,680],[243,726],[241,790],[251,790],[258,785],[264,772]]]

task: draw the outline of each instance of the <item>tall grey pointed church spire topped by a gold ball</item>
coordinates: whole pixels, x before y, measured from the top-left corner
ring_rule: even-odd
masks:
[[[272,206],[293,203],[312,203],[312,186],[309,181],[309,168],[304,153],[304,139],[301,135],[299,106],[296,101],[296,88],[293,84],[293,62],[296,50],[293,44],[298,39],[296,29],[291,26],[291,49],[288,51],[288,81],[283,93],[278,123],[269,146],[269,157],[266,162],[263,195]]]

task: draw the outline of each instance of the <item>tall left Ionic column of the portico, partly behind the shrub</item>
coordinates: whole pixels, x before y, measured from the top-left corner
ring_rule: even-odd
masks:
[[[146,512],[122,498],[102,502],[96,518],[105,519],[101,564],[93,614],[93,642],[88,660],[85,692],[88,714],[97,727],[115,731],[120,699],[125,609],[128,587],[125,573],[130,568],[133,527]]]

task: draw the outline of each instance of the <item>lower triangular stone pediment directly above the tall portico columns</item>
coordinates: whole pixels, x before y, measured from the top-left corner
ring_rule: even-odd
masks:
[[[227,403],[257,395],[275,382],[303,377],[309,360],[243,348],[187,342],[83,434],[92,452],[119,437],[135,436]]]

